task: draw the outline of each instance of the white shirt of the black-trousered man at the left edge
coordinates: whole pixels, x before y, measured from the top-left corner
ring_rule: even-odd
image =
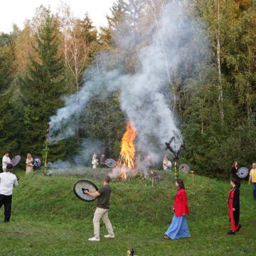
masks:
[[[0,174],[0,194],[11,196],[14,187],[18,186],[16,175],[7,171]]]

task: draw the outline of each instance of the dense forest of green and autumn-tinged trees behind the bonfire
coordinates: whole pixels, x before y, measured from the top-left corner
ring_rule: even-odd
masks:
[[[193,21],[193,37],[181,35],[181,58],[163,92],[186,142],[181,161],[198,174],[229,176],[233,161],[249,167],[256,155],[256,1],[169,1],[183,4]],[[0,151],[42,156],[46,124],[63,96],[79,92],[97,56],[111,51],[124,73],[139,69],[137,50],[150,41],[144,31],[165,2],[117,0],[102,28],[90,14],[75,18],[65,4],[55,15],[40,6],[23,29],[0,31]],[[119,43],[126,31],[137,40]],[[118,157],[127,122],[118,90],[91,98],[76,122],[73,137],[50,145],[49,161],[77,154],[86,138]]]

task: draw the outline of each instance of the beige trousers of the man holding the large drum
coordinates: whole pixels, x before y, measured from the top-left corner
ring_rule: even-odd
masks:
[[[97,207],[95,210],[95,215],[93,217],[95,238],[100,238],[100,219],[101,218],[106,225],[107,232],[110,235],[114,235],[114,231],[113,231],[110,219],[108,218],[108,211],[109,211],[108,209],[103,209],[99,207]]]

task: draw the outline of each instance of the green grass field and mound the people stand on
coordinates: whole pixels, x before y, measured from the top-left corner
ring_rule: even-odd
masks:
[[[101,177],[87,169],[85,177],[102,185]],[[75,197],[73,185],[78,176],[22,176],[14,188],[10,223],[0,223],[1,256],[14,255],[256,255],[256,202],[252,187],[242,182],[240,188],[240,223],[236,235],[227,235],[228,181],[181,174],[191,214],[187,217],[191,238],[164,240],[171,223],[176,191],[174,174],[159,171],[164,180],[112,181],[110,220],[116,238],[107,239],[101,225],[100,242],[93,236],[92,217],[96,202],[85,203]],[[0,214],[4,215],[4,207]]]

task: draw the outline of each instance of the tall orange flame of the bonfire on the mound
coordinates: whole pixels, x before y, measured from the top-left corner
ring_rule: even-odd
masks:
[[[127,179],[127,169],[134,170],[134,156],[135,156],[135,146],[134,139],[136,137],[137,130],[132,126],[132,121],[127,123],[126,132],[122,137],[120,157],[117,161],[117,167],[120,169],[119,178]]]

